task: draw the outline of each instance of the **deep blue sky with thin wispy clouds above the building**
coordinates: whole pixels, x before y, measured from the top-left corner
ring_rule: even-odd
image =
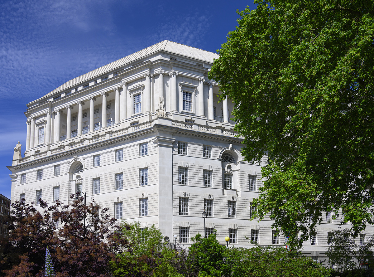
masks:
[[[215,52],[242,0],[1,0],[0,194],[13,147],[26,146],[26,104],[66,81],[168,39]]]

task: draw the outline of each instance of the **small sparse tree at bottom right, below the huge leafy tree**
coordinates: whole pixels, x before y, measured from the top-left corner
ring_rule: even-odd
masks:
[[[373,236],[358,244],[350,237],[348,229],[337,230],[329,237],[329,243],[331,245],[326,249],[329,265],[346,269],[362,269],[364,265],[373,265]]]

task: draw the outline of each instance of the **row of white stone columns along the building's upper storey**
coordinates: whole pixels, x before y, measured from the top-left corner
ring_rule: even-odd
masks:
[[[165,102],[168,101],[166,99],[165,89],[164,89],[164,71],[158,71],[156,74],[159,74],[159,86],[158,86],[158,96],[164,97]],[[178,73],[174,70],[169,73],[169,86],[171,89],[170,93],[170,112],[177,112],[178,111],[178,83],[177,83],[177,76]],[[153,80],[154,75],[146,73],[144,74],[144,77],[146,79],[145,81],[145,87],[144,90],[142,90],[142,113],[151,113],[151,80]],[[199,78],[199,85],[197,87],[196,91],[196,109],[195,114],[197,116],[204,116],[205,117],[205,97],[203,92],[203,85],[205,82],[204,78]],[[153,82],[153,81],[152,81]],[[214,120],[214,101],[213,101],[213,86],[214,84],[209,82],[208,83],[208,119]],[[156,86],[155,86],[156,87]],[[122,88],[122,92],[120,92],[120,89]],[[111,92],[111,91],[110,91]],[[132,104],[130,105],[130,110],[128,109],[128,97],[131,97],[131,92],[128,91],[128,83],[122,82],[121,86],[118,86],[113,89],[113,92],[115,93],[115,104],[114,104],[114,124],[119,124],[120,121],[125,120],[128,118],[128,116],[132,115]],[[107,124],[107,97],[109,96],[108,92],[101,92],[100,94],[102,96],[102,110],[101,110],[101,128],[105,128]],[[154,99],[158,98],[157,95],[155,95]],[[89,131],[93,131],[94,126],[94,111],[95,111],[95,101],[96,97],[88,97],[87,100],[89,101]],[[80,100],[76,103],[76,106],[78,106],[78,127],[77,127],[77,136],[82,135],[82,122],[83,122],[83,106],[85,105],[85,102],[83,100]],[[67,106],[60,107],[58,109],[51,111],[47,111],[45,113],[45,137],[43,143],[55,143],[60,141],[61,136],[61,113],[63,109],[67,109],[67,121],[66,121],[66,139],[71,138],[71,113],[72,109],[74,109],[72,104],[68,104]],[[130,115],[128,114],[128,111],[130,112]],[[53,119],[53,120],[52,120]],[[228,113],[227,113],[227,98],[223,101],[223,121],[228,122]],[[27,120],[27,136],[26,136],[26,150],[36,147],[39,141],[36,141],[36,118],[31,117]],[[51,137],[51,133],[53,130],[53,136]]]

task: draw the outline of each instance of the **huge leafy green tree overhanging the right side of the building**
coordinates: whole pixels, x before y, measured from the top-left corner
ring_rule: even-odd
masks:
[[[332,211],[357,235],[374,223],[374,3],[255,3],[209,77],[236,103],[246,160],[268,159],[256,216],[295,242]]]

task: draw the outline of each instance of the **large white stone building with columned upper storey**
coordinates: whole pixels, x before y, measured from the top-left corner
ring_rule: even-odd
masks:
[[[240,155],[233,103],[218,103],[208,79],[217,57],[165,40],[29,103],[25,157],[9,167],[12,202],[68,203],[83,191],[117,219],[155,224],[187,245],[204,234],[205,210],[205,232],[216,229],[222,244],[229,235],[237,246],[251,237],[283,245],[269,217],[248,220],[264,164]],[[321,259],[339,225],[328,215],[304,251]]]

